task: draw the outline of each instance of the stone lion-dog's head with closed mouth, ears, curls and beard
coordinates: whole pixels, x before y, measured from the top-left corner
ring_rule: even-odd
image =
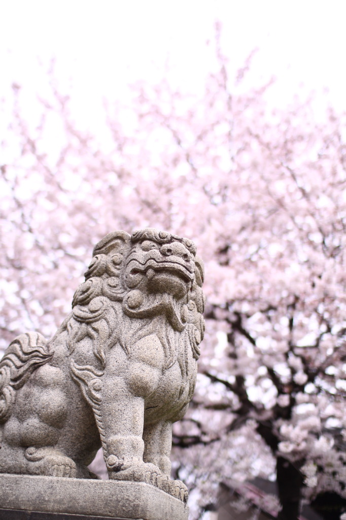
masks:
[[[113,231],[94,249],[94,257],[73,300],[73,307],[100,307],[102,298],[122,302],[131,318],[165,314],[183,330],[191,310],[203,311],[203,264],[195,244],[167,231],[145,228],[132,235]],[[99,303],[99,305],[97,305]],[[75,309],[76,315],[83,309]]]

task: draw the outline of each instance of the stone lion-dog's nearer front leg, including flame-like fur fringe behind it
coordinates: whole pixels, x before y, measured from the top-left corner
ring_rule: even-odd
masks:
[[[162,364],[154,335],[132,346],[130,355],[114,346],[104,371],[71,362],[73,378],[94,411],[109,478],[158,485],[158,466],[143,461],[143,423],[144,399],[157,387]]]

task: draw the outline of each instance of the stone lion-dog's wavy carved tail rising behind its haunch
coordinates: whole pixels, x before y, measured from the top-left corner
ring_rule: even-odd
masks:
[[[6,349],[0,361],[0,424],[11,415],[16,391],[28,381],[37,367],[53,356],[46,345],[42,334],[26,332],[17,336]]]

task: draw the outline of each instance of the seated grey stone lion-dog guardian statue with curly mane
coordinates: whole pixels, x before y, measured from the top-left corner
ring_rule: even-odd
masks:
[[[186,500],[169,456],[196,381],[202,283],[188,239],[104,237],[55,336],[21,334],[0,362],[0,473],[96,478],[102,446],[109,478]]]

